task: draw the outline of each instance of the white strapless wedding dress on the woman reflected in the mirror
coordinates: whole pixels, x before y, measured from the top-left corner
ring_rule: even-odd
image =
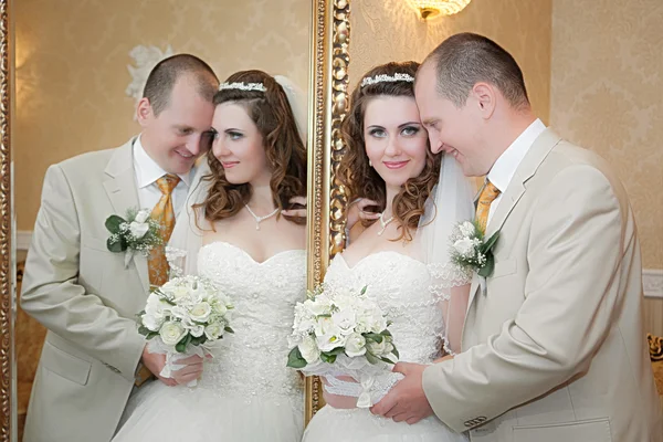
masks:
[[[296,302],[306,297],[303,250],[263,263],[225,242],[202,246],[198,273],[235,309],[197,387],[144,386],[129,400],[113,442],[299,442],[304,386],[286,368]]]

